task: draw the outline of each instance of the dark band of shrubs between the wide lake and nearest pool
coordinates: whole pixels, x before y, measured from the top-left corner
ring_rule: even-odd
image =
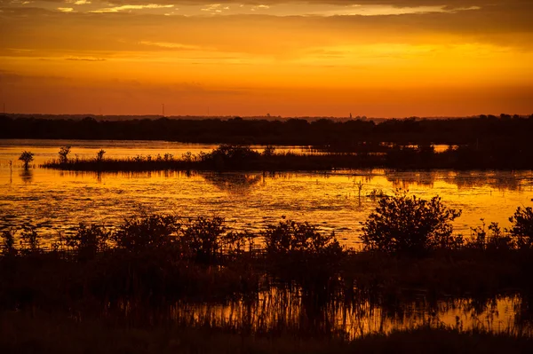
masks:
[[[126,218],[115,228],[80,224],[48,248],[35,228],[4,230],[1,303],[89,303],[123,298],[224,300],[297,285],[321,296],[498,295],[532,292],[533,209],[513,227],[455,235],[460,212],[435,197],[384,196],[363,224],[362,250],[313,224],[282,220],[257,234],[219,217]],[[62,289],[62,291],[60,291]]]

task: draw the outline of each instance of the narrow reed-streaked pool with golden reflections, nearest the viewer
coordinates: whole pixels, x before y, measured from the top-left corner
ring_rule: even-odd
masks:
[[[123,302],[112,316],[124,316],[132,324],[148,321],[153,325],[155,321],[166,321],[187,327],[224,328],[242,334],[336,335],[345,339],[389,334],[418,326],[532,335],[531,322],[521,319],[521,307],[519,296],[436,302],[428,302],[422,296],[393,304],[373,303],[364,297],[347,302],[322,302],[298,288],[272,288],[255,297],[227,303],[183,301],[156,311]]]

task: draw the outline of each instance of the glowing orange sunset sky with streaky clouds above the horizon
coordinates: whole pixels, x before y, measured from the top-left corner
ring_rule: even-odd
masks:
[[[7,113],[533,114],[531,0],[0,0]]]

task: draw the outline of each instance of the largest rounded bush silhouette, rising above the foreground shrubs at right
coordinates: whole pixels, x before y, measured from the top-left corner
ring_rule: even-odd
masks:
[[[437,248],[456,248],[463,243],[453,236],[450,224],[460,210],[447,208],[440,197],[425,201],[397,192],[383,197],[362,227],[364,248],[386,253],[423,256]]]

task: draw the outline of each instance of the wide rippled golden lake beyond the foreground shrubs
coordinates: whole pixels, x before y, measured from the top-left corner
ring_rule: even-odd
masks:
[[[509,226],[517,207],[533,206],[533,171],[356,169],[332,172],[145,172],[76,173],[41,169],[58,157],[134,157],[209,152],[216,146],[164,141],[0,140],[0,228],[34,224],[45,237],[71,232],[79,223],[109,226],[141,212],[178,216],[223,216],[229,227],[257,232],[286,217],[335,232],[346,246],[360,247],[361,222],[376,208],[372,192],[398,188],[422,198],[435,195],[462,216],[455,232],[498,222]],[[262,150],[261,146],[253,146]],[[35,153],[28,171],[20,153]],[[298,146],[278,150],[309,152]],[[361,193],[359,186],[362,186]]]

